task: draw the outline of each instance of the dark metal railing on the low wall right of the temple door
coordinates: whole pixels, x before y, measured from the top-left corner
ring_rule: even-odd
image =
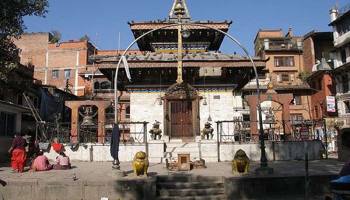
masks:
[[[250,121],[244,120],[226,120],[215,121],[218,141],[221,143],[232,142],[253,142],[251,139]],[[258,121],[257,121],[258,123]],[[290,128],[287,123],[290,123]],[[316,131],[316,127],[325,127],[324,120],[273,120],[263,122],[263,137],[266,141],[285,141],[284,132],[290,132],[289,140],[302,140],[300,127],[307,125],[309,134],[307,140],[325,140],[326,132]],[[259,127],[259,125],[257,124]],[[256,129],[254,134],[259,134]]]

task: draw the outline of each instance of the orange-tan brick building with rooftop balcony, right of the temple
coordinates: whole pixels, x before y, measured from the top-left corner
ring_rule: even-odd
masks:
[[[310,94],[307,82],[298,76],[305,70],[302,37],[293,36],[292,29],[284,35],[283,30],[259,29],[254,40],[255,55],[266,62],[266,79],[272,80],[277,93],[292,93],[290,120],[311,119]],[[279,103],[271,102],[277,120],[281,120]]]

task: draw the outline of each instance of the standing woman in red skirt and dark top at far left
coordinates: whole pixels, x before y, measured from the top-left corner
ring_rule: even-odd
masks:
[[[11,157],[11,166],[13,168],[12,172],[23,172],[25,163],[26,163],[26,152],[25,152],[25,146],[28,144],[26,143],[25,139],[20,136],[19,132],[14,133],[14,139],[12,140],[12,145],[8,149],[8,153],[12,152]]]

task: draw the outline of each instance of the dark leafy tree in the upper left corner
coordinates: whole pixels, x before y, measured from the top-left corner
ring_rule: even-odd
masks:
[[[0,0],[0,81],[6,82],[7,73],[17,66],[6,52],[18,50],[13,39],[19,39],[26,29],[23,16],[45,17],[47,7],[47,0]]]

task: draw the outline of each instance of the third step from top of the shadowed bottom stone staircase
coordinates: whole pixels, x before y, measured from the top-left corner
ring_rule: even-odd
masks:
[[[224,188],[160,189],[159,196],[206,196],[224,194]]]

